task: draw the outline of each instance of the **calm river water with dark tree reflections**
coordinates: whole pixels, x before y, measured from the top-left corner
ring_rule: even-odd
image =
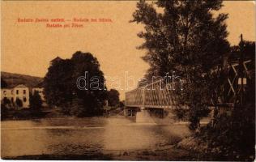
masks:
[[[105,117],[5,121],[1,126],[2,157],[151,149],[188,134],[186,125]]]

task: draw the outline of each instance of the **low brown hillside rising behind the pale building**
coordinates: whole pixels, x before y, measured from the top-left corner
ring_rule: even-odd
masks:
[[[28,87],[38,87],[43,81],[43,78],[30,76],[30,75],[19,75],[13,73],[7,73],[1,71],[2,79],[7,83],[7,87],[15,87],[18,84],[24,84]]]

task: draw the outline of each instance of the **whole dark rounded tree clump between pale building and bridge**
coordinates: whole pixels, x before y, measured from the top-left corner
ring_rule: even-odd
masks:
[[[80,77],[84,79],[82,89],[77,85]],[[53,59],[44,87],[49,105],[60,106],[64,112],[79,117],[99,114],[107,97],[104,74],[91,53],[76,52],[70,59]],[[79,114],[74,112],[75,105],[79,107]]]

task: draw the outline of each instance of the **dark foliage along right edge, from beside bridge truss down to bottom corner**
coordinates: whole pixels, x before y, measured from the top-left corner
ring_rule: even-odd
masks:
[[[244,54],[251,60],[247,67],[247,83],[243,93],[243,104],[235,103],[229,111],[215,109],[212,123],[199,132],[198,136],[209,143],[209,151],[220,156],[217,160],[254,160],[255,158],[255,42],[245,41],[244,49],[234,46],[230,61]],[[237,98],[239,98],[237,92]],[[212,152],[211,152],[212,153]]]

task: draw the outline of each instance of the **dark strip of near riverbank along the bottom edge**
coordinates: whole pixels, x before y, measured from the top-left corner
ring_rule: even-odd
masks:
[[[191,151],[173,145],[156,150],[103,151],[87,155],[33,155],[9,156],[4,160],[197,160]]]

